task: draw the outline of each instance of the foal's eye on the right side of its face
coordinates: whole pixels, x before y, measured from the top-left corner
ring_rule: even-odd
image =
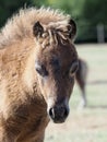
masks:
[[[79,68],[79,61],[72,62],[71,68],[69,70],[69,75],[73,76],[74,73],[76,72],[78,68]]]

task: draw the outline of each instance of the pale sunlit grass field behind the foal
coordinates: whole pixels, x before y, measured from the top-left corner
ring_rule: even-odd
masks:
[[[67,121],[50,122],[45,142],[107,142],[107,45],[78,45],[76,48],[90,69],[87,107],[78,109],[81,91],[75,84]]]

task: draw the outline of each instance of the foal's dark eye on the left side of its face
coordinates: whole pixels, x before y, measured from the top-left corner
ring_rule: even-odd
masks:
[[[39,75],[41,76],[48,75],[48,71],[46,70],[44,66],[35,64],[35,69]]]

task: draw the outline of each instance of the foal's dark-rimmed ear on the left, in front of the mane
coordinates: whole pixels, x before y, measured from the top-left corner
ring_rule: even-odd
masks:
[[[33,34],[34,36],[41,36],[44,33],[44,27],[41,26],[41,24],[38,22],[36,22],[33,26]]]

